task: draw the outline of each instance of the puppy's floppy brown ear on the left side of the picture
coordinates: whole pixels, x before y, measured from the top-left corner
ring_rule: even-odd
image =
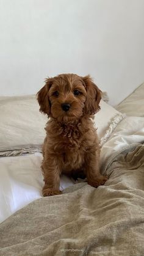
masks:
[[[37,93],[37,100],[40,105],[40,112],[43,112],[47,115],[51,112],[51,102],[49,101],[48,91],[52,86],[53,79],[46,79],[45,86],[43,86]]]

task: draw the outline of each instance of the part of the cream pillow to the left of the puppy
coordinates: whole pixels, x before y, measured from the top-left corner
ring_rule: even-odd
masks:
[[[46,115],[34,95],[0,97],[0,151],[38,147],[45,137]]]

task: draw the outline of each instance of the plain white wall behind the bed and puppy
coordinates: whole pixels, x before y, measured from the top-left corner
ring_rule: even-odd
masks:
[[[0,0],[0,95],[90,73],[117,104],[144,81],[143,0]]]

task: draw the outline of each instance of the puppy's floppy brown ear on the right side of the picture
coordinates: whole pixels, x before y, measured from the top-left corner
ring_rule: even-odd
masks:
[[[85,89],[87,90],[87,97],[85,100],[84,114],[93,115],[99,111],[99,102],[101,100],[101,90],[98,89],[96,84],[92,81],[90,76],[84,76],[82,78],[84,81]]]

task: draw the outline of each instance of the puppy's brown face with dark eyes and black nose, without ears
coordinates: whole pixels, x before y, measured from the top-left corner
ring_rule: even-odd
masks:
[[[48,92],[52,117],[63,122],[81,117],[86,95],[79,76],[57,76]]]

